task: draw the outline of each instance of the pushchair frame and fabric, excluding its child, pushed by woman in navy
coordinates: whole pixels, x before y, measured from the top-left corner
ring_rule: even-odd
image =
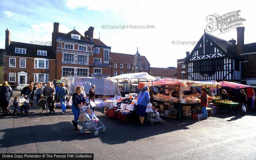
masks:
[[[94,136],[98,136],[99,129],[101,129],[101,128],[102,128],[103,133],[106,132],[106,127],[101,123],[100,120],[98,122],[94,122],[90,119],[90,116],[86,112],[86,110],[88,108],[89,108],[88,106],[83,106],[80,108],[80,116],[82,116],[82,119],[83,119],[83,127],[82,127],[82,129],[80,129],[80,133],[84,133],[84,129],[92,130],[92,131],[94,130]],[[91,109],[90,109],[90,111],[92,113],[94,113]],[[96,115],[95,115],[95,118],[97,118]],[[100,127],[97,127],[98,123],[101,124]]]

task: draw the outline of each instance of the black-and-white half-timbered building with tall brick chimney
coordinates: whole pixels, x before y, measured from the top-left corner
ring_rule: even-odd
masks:
[[[205,33],[190,54],[177,60],[177,78],[256,85],[256,43],[244,44],[244,30],[237,27],[237,43]]]

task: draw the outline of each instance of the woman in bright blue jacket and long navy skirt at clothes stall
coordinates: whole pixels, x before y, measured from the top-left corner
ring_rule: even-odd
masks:
[[[148,93],[148,87],[144,87],[142,91],[139,93],[138,98],[138,107],[137,107],[137,115],[140,117],[140,123],[143,125],[144,118],[147,116],[146,108],[147,104],[150,102],[150,94]]]

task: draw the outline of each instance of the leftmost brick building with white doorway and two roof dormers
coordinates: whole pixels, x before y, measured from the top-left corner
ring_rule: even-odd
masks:
[[[56,57],[51,46],[11,41],[5,30],[4,79],[12,87],[56,79]]]

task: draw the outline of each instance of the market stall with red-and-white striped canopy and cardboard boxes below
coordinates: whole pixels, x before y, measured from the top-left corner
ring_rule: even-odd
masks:
[[[147,83],[150,85],[150,83]],[[184,119],[200,119],[202,110],[200,106],[199,93],[195,95],[189,94],[190,86],[201,87],[218,87],[217,82],[196,82],[179,79],[161,79],[153,82],[153,85],[161,85],[165,87],[166,94],[154,95],[153,108],[159,112],[160,116],[170,118],[184,118]],[[178,96],[173,96],[172,92],[178,88]],[[210,111],[212,108],[207,108]],[[199,114],[198,114],[199,113]]]

